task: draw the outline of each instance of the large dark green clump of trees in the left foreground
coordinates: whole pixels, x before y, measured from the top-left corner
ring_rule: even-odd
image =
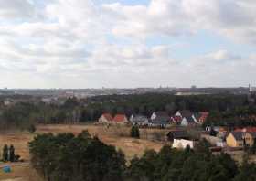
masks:
[[[48,181],[123,180],[123,153],[87,131],[77,137],[72,133],[37,135],[29,143],[29,152],[31,164]]]

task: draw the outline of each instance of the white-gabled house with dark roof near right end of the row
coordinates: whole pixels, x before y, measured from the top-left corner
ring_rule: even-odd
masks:
[[[176,112],[176,116],[182,118],[182,121],[180,123],[182,126],[195,125],[197,123],[195,115],[188,110],[178,111]]]

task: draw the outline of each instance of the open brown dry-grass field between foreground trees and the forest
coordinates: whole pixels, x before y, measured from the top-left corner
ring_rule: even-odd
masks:
[[[159,151],[164,145],[163,142],[153,142],[152,135],[156,134],[161,138],[167,132],[166,130],[142,130],[142,139],[133,139],[129,137],[130,128],[124,126],[101,126],[101,125],[39,125],[36,133],[11,132],[0,133],[0,149],[4,144],[13,144],[16,148],[16,154],[25,160],[25,163],[8,164],[12,166],[13,172],[5,174],[0,171],[0,180],[14,179],[15,181],[39,181],[35,171],[29,166],[28,142],[33,140],[37,133],[74,133],[78,134],[82,130],[88,130],[91,135],[97,135],[105,144],[111,144],[118,149],[122,149],[128,160],[131,160],[136,154],[138,156],[144,153],[146,149]],[[4,164],[0,164],[0,168]]]

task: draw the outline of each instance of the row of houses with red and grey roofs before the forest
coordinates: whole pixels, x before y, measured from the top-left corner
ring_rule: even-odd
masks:
[[[107,123],[125,123],[131,122],[136,125],[166,127],[169,124],[178,124],[182,126],[196,125],[203,123],[208,118],[208,112],[193,113],[188,110],[178,111],[175,115],[169,116],[168,112],[153,112],[148,118],[144,115],[133,114],[128,119],[125,114],[117,114],[114,117],[110,113],[103,113],[99,122]]]

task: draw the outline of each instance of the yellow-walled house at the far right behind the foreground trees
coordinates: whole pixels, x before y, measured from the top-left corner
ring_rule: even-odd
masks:
[[[230,147],[242,147],[244,144],[244,132],[231,132],[226,138]]]

